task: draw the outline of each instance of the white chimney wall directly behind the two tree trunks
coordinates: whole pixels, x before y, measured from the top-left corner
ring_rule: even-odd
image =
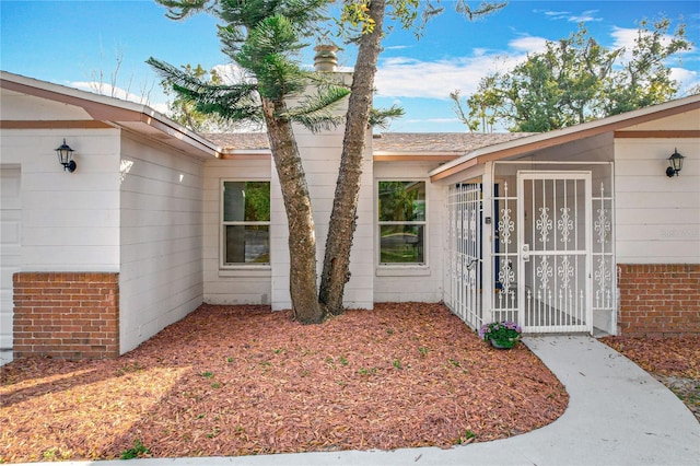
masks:
[[[312,135],[295,127],[296,142],[304,160],[306,182],[312,198],[316,225],[317,272],[323,271],[324,247],[328,235],[328,222],[332,210],[343,127],[335,131]],[[370,141],[368,136],[368,143]],[[351,278],[346,286],[343,304],[353,308],[373,308],[373,182],[370,147],[364,152],[362,186],[358,203],[358,226],[350,255]],[[270,256],[272,261],[272,308],[291,307],[289,291],[289,251],[287,214],[277,172],[272,168],[271,186]]]

